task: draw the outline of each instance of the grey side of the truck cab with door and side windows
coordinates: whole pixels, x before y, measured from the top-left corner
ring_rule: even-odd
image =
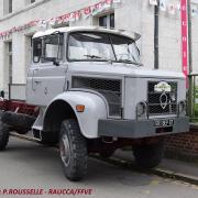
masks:
[[[33,41],[33,45],[36,45],[36,42],[42,45],[42,56],[38,63],[35,63],[37,54],[33,52],[34,63],[28,76],[28,102],[47,106],[54,97],[65,90],[67,65],[64,63],[64,34],[44,36]]]

